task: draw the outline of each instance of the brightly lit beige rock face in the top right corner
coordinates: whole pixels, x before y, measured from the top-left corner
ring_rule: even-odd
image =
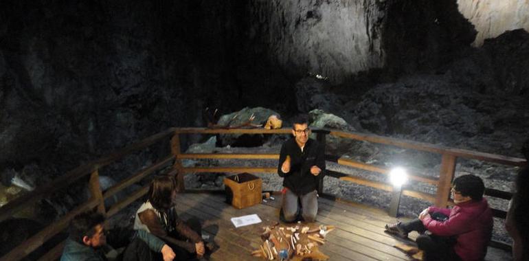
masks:
[[[458,0],[458,9],[477,30],[475,46],[508,30],[529,31],[529,1],[526,0]]]

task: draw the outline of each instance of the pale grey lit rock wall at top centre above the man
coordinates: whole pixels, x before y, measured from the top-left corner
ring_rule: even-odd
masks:
[[[251,1],[249,41],[271,63],[302,76],[343,82],[383,66],[383,1]]]

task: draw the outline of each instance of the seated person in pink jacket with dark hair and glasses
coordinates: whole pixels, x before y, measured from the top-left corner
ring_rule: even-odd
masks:
[[[480,177],[464,175],[454,179],[452,209],[428,207],[418,218],[386,225],[388,233],[407,238],[418,231],[417,246],[425,260],[483,260],[493,231],[493,214],[483,192]]]

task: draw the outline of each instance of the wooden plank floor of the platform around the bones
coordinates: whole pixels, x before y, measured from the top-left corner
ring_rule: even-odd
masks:
[[[211,260],[262,260],[250,256],[262,243],[262,227],[278,222],[280,196],[274,201],[246,209],[235,209],[225,203],[222,194],[187,193],[179,194],[178,212],[181,218],[199,218],[203,222],[203,234],[210,235],[220,248],[212,254]],[[230,218],[247,214],[258,214],[262,223],[235,228]],[[393,223],[395,218],[382,209],[340,203],[319,198],[318,225],[335,225],[327,236],[327,242],[320,250],[330,260],[411,260],[405,253],[393,246],[401,241],[384,233],[384,225]],[[413,232],[410,238],[415,238]],[[489,247],[486,260],[508,260],[508,253]]]

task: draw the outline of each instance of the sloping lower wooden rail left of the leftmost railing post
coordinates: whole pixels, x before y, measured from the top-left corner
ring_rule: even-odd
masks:
[[[44,242],[49,240],[49,238],[52,238],[52,236],[55,236],[60,231],[63,231],[63,229],[65,229],[69,225],[71,219],[73,219],[75,216],[82,212],[92,209],[93,207],[98,205],[98,203],[99,202],[95,198],[91,198],[89,201],[76,207],[71,212],[68,212],[68,214],[63,216],[63,218],[60,218],[51,225],[48,225],[31,238],[28,238],[23,243],[16,246],[9,253],[2,256],[0,258],[0,261],[16,261],[25,258],[25,256],[29,255],[35,249],[43,245]]]

